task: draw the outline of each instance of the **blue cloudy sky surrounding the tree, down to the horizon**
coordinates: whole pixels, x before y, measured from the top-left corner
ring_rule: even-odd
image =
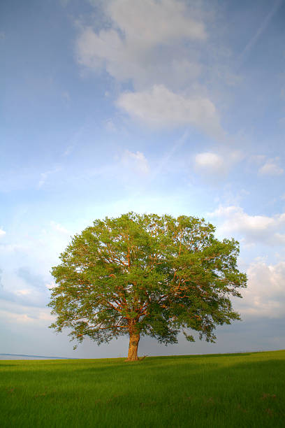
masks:
[[[205,218],[248,276],[217,343],[140,355],[285,348],[284,22],[284,0],[1,2],[0,353],[126,355],[73,350],[46,305],[71,237],[129,211]]]

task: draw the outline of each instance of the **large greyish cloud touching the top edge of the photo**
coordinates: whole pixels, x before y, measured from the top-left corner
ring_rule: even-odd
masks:
[[[193,10],[190,15],[182,1],[115,0],[105,14],[112,27],[82,30],[77,41],[80,64],[94,70],[103,67],[117,80],[131,79],[135,85],[157,83],[157,78],[169,81],[169,76],[189,80],[200,71],[196,60],[177,55],[182,41],[207,37],[203,22]],[[173,49],[178,43],[180,47]]]

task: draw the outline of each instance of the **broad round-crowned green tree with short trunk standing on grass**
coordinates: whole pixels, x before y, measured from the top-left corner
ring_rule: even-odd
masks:
[[[184,330],[191,329],[214,342],[217,325],[240,320],[229,297],[241,297],[247,285],[237,269],[238,241],[219,241],[214,230],[186,215],[95,220],[52,268],[49,306],[57,320],[50,327],[98,344],[129,334],[129,361],[138,359],[140,335],[177,343],[182,329],[194,341]]]

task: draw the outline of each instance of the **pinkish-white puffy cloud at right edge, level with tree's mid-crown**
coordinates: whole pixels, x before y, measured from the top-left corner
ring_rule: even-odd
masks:
[[[242,291],[239,311],[242,314],[283,317],[285,313],[285,262],[267,265],[256,260],[247,269],[248,285]]]

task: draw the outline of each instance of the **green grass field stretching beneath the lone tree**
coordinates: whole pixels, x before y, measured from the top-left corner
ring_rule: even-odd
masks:
[[[285,350],[0,361],[0,427],[284,427]]]

